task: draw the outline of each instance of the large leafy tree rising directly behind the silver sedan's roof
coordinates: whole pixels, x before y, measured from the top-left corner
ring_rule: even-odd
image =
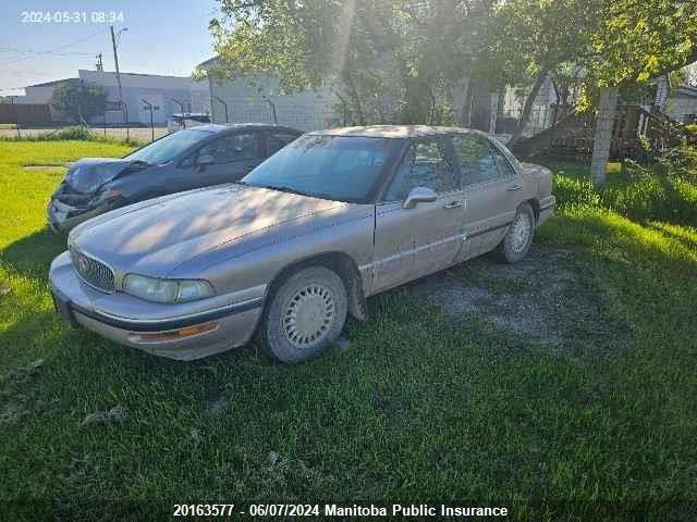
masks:
[[[492,5],[222,0],[224,17],[211,21],[210,29],[223,66],[212,74],[273,74],[285,91],[331,87],[358,124],[447,121]]]

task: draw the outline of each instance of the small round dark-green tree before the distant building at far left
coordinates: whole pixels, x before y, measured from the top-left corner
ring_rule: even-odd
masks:
[[[107,91],[100,85],[70,79],[53,88],[50,105],[76,123],[86,124],[101,115],[107,103]]]

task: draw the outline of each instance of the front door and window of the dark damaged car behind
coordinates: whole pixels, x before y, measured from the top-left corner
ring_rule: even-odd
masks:
[[[220,185],[242,179],[262,159],[257,132],[222,136],[204,145],[193,160],[193,174],[198,186]]]

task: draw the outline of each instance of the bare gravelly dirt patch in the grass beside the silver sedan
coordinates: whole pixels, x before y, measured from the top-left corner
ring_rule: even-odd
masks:
[[[412,283],[406,291],[554,348],[612,331],[578,252],[535,246],[516,264],[488,256]]]

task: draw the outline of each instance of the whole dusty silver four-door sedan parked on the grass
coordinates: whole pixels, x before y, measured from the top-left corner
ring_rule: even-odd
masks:
[[[122,345],[197,359],[255,338],[330,346],[366,298],[494,251],[522,260],[555,204],[549,170],[453,127],[320,130],[242,182],[114,210],[53,261],[57,310]]]

